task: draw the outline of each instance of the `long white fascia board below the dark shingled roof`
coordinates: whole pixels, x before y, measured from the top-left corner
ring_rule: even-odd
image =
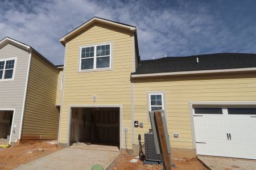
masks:
[[[220,69],[220,70],[200,70],[200,71],[178,71],[169,73],[152,73],[152,74],[132,74],[131,78],[146,78],[154,76],[168,76],[168,75],[191,75],[191,74],[208,74],[208,73],[229,73],[242,71],[256,71],[256,67],[242,68],[242,69]]]

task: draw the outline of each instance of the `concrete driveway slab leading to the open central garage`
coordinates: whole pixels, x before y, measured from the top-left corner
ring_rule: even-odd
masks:
[[[40,169],[88,169],[100,164],[104,169],[119,155],[119,152],[64,148],[43,158],[21,165],[17,170]]]

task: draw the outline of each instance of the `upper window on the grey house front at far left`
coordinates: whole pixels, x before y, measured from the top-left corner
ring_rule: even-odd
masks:
[[[16,59],[0,59],[0,80],[13,80]]]

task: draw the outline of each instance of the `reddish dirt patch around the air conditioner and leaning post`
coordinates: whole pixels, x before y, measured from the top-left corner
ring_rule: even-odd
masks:
[[[137,163],[131,163],[130,160],[134,159],[134,156],[127,156],[124,154],[120,154],[117,159],[115,159],[114,163],[111,165],[110,170],[117,169],[134,169],[134,170],[162,170],[162,165],[143,165],[141,160],[138,160]],[[172,163],[176,165],[176,168],[172,169],[180,169],[180,170],[188,170],[188,169],[198,169],[198,170],[206,170],[203,164],[199,162],[197,159],[182,159],[182,160],[172,160]]]

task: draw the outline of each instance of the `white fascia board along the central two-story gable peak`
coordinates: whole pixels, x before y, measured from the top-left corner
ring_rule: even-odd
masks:
[[[92,18],[90,19],[88,22],[82,24],[80,27],[74,29],[72,32],[69,32],[67,35],[65,35],[64,37],[61,37],[61,39],[59,40],[60,42],[65,41],[65,38],[72,35],[74,32],[79,31],[79,29],[85,27],[86,25],[89,25],[90,23],[94,22],[95,20],[100,21],[100,22],[104,22],[104,23],[109,23],[109,24],[113,24],[113,25],[117,25],[119,27],[123,27],[123,28],[128,28],[130,29],[130,31],[136,31],[136,27],[131,27],[129,25],[123,25],[123,24],[118,24],[115,22],[112,22],[110,20],[105,20],[105,19],[101,19],[101,18]]]

